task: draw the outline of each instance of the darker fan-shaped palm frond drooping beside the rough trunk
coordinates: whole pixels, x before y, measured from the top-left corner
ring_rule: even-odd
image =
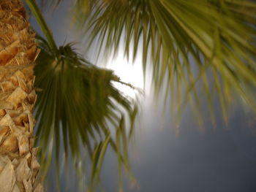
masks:
[[[94,188],[108,147],[129,171],[127,149],[118,150],[118,145],[127,147],[129,128],[124,130],[120,123],[129,123],[132,131],[138,110],[132,100],[113,87],[118,77],[83,59],[72,49],[72,44],[59,47],[56,56],[44,39],[37,39],[41,53],[34,69],[38,90],[35,110],[44,174],[52,156],[56,158],[57,174],[63,156],[66,164],[72,157],[78,172],[85,174],[78,165],[82,162],[84,166],[86,149],[92,167],[87,179]],[[115,135],[121,135],[122,144],[116,142]]]

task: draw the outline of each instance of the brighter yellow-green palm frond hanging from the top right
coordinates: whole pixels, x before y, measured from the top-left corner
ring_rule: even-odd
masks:
[[[98,46],[99,53],[124,47],[128,58],[141,51],[144,72],[153,69],[156,93],[171,93],[173,108],[183,109],[182,104],[192,101],[200,110],[203,94],[214,114],[212,92],[225,119],[233,93],[256,107],[253,1],[96,0],[91,7],[89,15],[76,9],[91,34],[89,47]]]

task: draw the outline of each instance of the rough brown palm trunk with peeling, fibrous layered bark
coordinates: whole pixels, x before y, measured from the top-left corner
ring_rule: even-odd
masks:
[[[42,191],[33,147],[39,50],[20,0],[0,0],[0,191]]]

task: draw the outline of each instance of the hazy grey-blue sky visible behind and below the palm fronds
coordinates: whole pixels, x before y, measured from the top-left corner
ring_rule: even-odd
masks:
[[[78,34],[69,28],[69,22],[65,20],[68,4],[64,1],[54,15],[45,15],[59,45],[79,42]],[[39,30],[34,20],[32,26]],[[79,47],[83,50],[83,45]],[[118,55],[118,59],[112,62],[107,67],[116,70],[122,80],[143,88],[140,61],[136,61],[134,66],[127,66],[127,61]],[[132,94],[130,92],[126,91]],[[187,110],[177,135],[170,121],[170,110],[163,112],[164,104],[151,98],[148,86],[140,106],[140,123],[129,148],[132,172],[138,185],[131,188],[125,180],[124,191],[256,191],[256,118],[245,107],[233,107],[228,126],[219,117],[220,110],[217,109],[217,125],[214,128],[206,124],[204,132],[198,128],[192,112]],[[117,186],[116,155],[108,150],[102,169],[102,188],[106,192],[114,192],[118,191]],[[72,189],[63,188],[61,191]]]

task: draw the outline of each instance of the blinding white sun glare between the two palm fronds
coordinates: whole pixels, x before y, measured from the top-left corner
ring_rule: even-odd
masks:
[[[130,83],[135,88],[143,90],[143,70],[140,62],[140,58],[135,59],[134,62],[127,61],[123,55],[118,54],[116,58],[110,59],[106,66],[108,69],[112,69],[114,74],[120,77],[121,81]],[[129,88],[127,85],[122,85],[121,83],[115,82],[115,87],[119,91],[123,92],[125,95],[130,96],[135,99],[138,95],[138,91]]]

